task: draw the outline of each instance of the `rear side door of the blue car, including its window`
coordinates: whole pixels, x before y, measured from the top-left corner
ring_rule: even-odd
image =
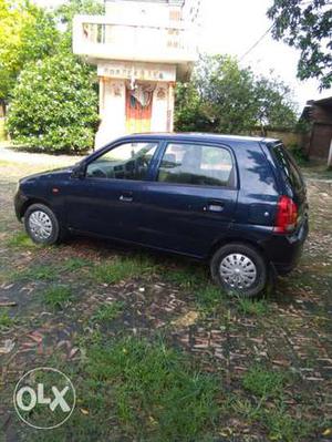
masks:
[[[146,183],[141,236],[152,246],[201,257],[229,233],[237,196],[229,147],[169,142],[155,181]]]

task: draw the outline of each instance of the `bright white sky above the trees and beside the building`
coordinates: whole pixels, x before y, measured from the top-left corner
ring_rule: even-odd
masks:
[[[63,0],[34,0],[43,7],[54,7]],[[199,50],[206,53],[228,53],[241,59],[269,29],[266,12],[272,0],[201,0]],[[308,100],[332,95],[332,90],[318,91],[318,81],[297,80],[299,52],[270,34],[241,60],[255,73],[280,76],[293,90],[293,99],[302,110]]]

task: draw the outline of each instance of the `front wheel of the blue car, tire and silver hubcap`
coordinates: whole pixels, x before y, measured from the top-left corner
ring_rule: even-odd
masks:
[[[50,207],[32,204],[24,213],[24,227],[35,244],[52,245],[61,239],[60,223]]]

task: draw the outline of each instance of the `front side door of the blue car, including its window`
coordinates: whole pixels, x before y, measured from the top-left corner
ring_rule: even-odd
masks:
[[[87,161],[68,191],[68,224],[79,232],[138,240],[142,193],[157,142],[124,142]]]

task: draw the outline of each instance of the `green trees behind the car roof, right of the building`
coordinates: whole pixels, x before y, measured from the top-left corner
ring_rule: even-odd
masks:
[[[292,127],[295,106],[278,79],[256,78],[228,55],[204,56],[191,81],[177,86],[176,127],[180,131],[249,133],[259,125]]]

